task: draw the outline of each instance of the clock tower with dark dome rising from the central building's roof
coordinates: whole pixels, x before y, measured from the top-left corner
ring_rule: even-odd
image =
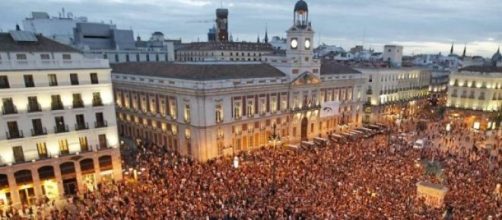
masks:
[[[320,64],[314,60],[314,31],[309,21],[309,9],[304,0],[295,4],[293,26],[287,31],[288,47],[286,57],[291,68],[292,78],[304,73],[319,76]]]

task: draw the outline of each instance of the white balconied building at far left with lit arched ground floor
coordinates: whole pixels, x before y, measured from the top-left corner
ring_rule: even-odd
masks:
[[[121,160],[106,60],[29,32],[0,33],[0,201],[93,190]]]

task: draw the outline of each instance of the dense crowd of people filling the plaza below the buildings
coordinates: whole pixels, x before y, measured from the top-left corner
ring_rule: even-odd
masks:
[[[134,166],[137,181],[100,184],[75,197],[52,219],[501,219],[500,151],[459,150],[443,142],[466,138],[456,130],[415,150],[389,148],[387,134],[345,144],[304,150],[262,148],[206,163],[166,147],[141,145]],[[451,145],[453,146],[453,144]],[[500,146],[496,146],[499,150]],[[441,164],[441,177],[423,161]],[[416,183],[448,187],[443,208],[417,197]]]

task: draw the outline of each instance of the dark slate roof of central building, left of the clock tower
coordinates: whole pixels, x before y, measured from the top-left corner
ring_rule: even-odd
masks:
[[[136,62],[111,64],[112,73],[144,75],[172,79],[210,81],[284,77],[285,74],[269,64],[189,64],[165,62]]]

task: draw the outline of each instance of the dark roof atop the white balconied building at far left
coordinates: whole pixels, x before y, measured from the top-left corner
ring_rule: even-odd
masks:
[[[80,52],[41,35],[36,35],[36,38],[36,42],[16,42],[10,33],[0,33],[0,52]]]

